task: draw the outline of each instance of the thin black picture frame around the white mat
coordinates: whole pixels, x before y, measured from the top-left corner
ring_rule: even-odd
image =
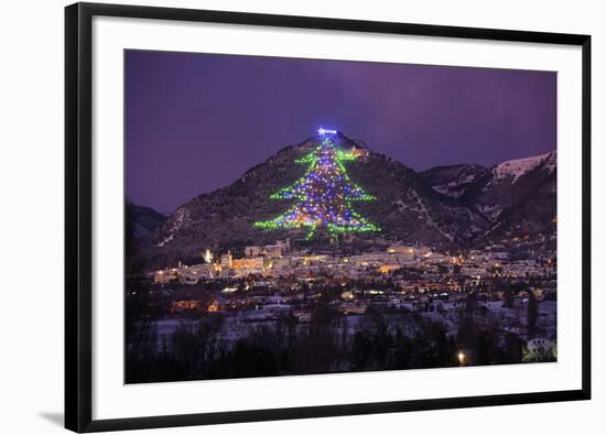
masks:
[[[582,388],[578,390],[93,420],[91,21],[95,15],[564,44],[582,47]],[[591,398],[591,36],[119,4],[65,9],[65,427],[99,432],[355,414],[495,406]]]

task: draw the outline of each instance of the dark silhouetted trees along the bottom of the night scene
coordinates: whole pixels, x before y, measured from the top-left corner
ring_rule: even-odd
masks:
[[[237,339],[227,339],[220,315],[190,320],[165,339],[140,322],[127,345],[127,383],[454,367],[459,351],[465,365],[521,362],[517,335],[480,327],[465,313],[452,335],[414,313],[370,313],[351,329],[347,317],[324,308],[310,324],[292,316],[248,324]]]

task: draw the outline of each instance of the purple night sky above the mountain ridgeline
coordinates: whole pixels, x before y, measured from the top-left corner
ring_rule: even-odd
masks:
[[[414,170],[490,166],[556,146],[556,74],[126,54],[126,192],[172,213],[334,128]]]

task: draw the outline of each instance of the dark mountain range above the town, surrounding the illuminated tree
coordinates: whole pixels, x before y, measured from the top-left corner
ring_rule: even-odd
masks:
[[[305,173],[306,165],[295,160],[321,140],[315,137],[286,146],[229,186],[180,206],[141,252],[144,263],[156,267],[178,260],[187,262],[199,259],[206,248],[237,250],[286,237],[297,248],[326,247],[328,240],[322,233],[305,241],[302,230],[264,230],[253,226],[293,204],[271,199],[270,195]],[[550,221],[554,217],[555,153],[523,164],[505,162],[490,170],[457,165],[416,173],[342,133],[334,135],[333,141],[343,150],[356,150],[358,159],[345,163],[347,172],[376,199],[355,202],[353,207],[381,229],[342,238],[339,246],[383,249],[388,243],[403,242],[457,249],[516,229],[541,232],[548,216]],[[537,208],[544,210],[538,214]]]

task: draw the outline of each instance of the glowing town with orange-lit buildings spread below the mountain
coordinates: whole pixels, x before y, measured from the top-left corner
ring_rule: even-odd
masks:
[[[286,239],[234,252],[206,249],[198,264],[147,274],[142,305],[159,349],[173,348],[199,323],[216,325],[214,338],[229,347],[258,326],[309,330],[318,312],[329,312],[328,327],[349,348],[380,315],[388,331],[440,325],[456,338],[454,365],[487,363],[475,341],[462,348],[465,328],[494,335],[496,347],[513,337],[511,362],[549,361],[556,352],[556,261],[535,246],[516,238],[456,254],[407,244],[343,254],[295,250]],[[140,286],[131,287],[127,308],[141,297]]]

